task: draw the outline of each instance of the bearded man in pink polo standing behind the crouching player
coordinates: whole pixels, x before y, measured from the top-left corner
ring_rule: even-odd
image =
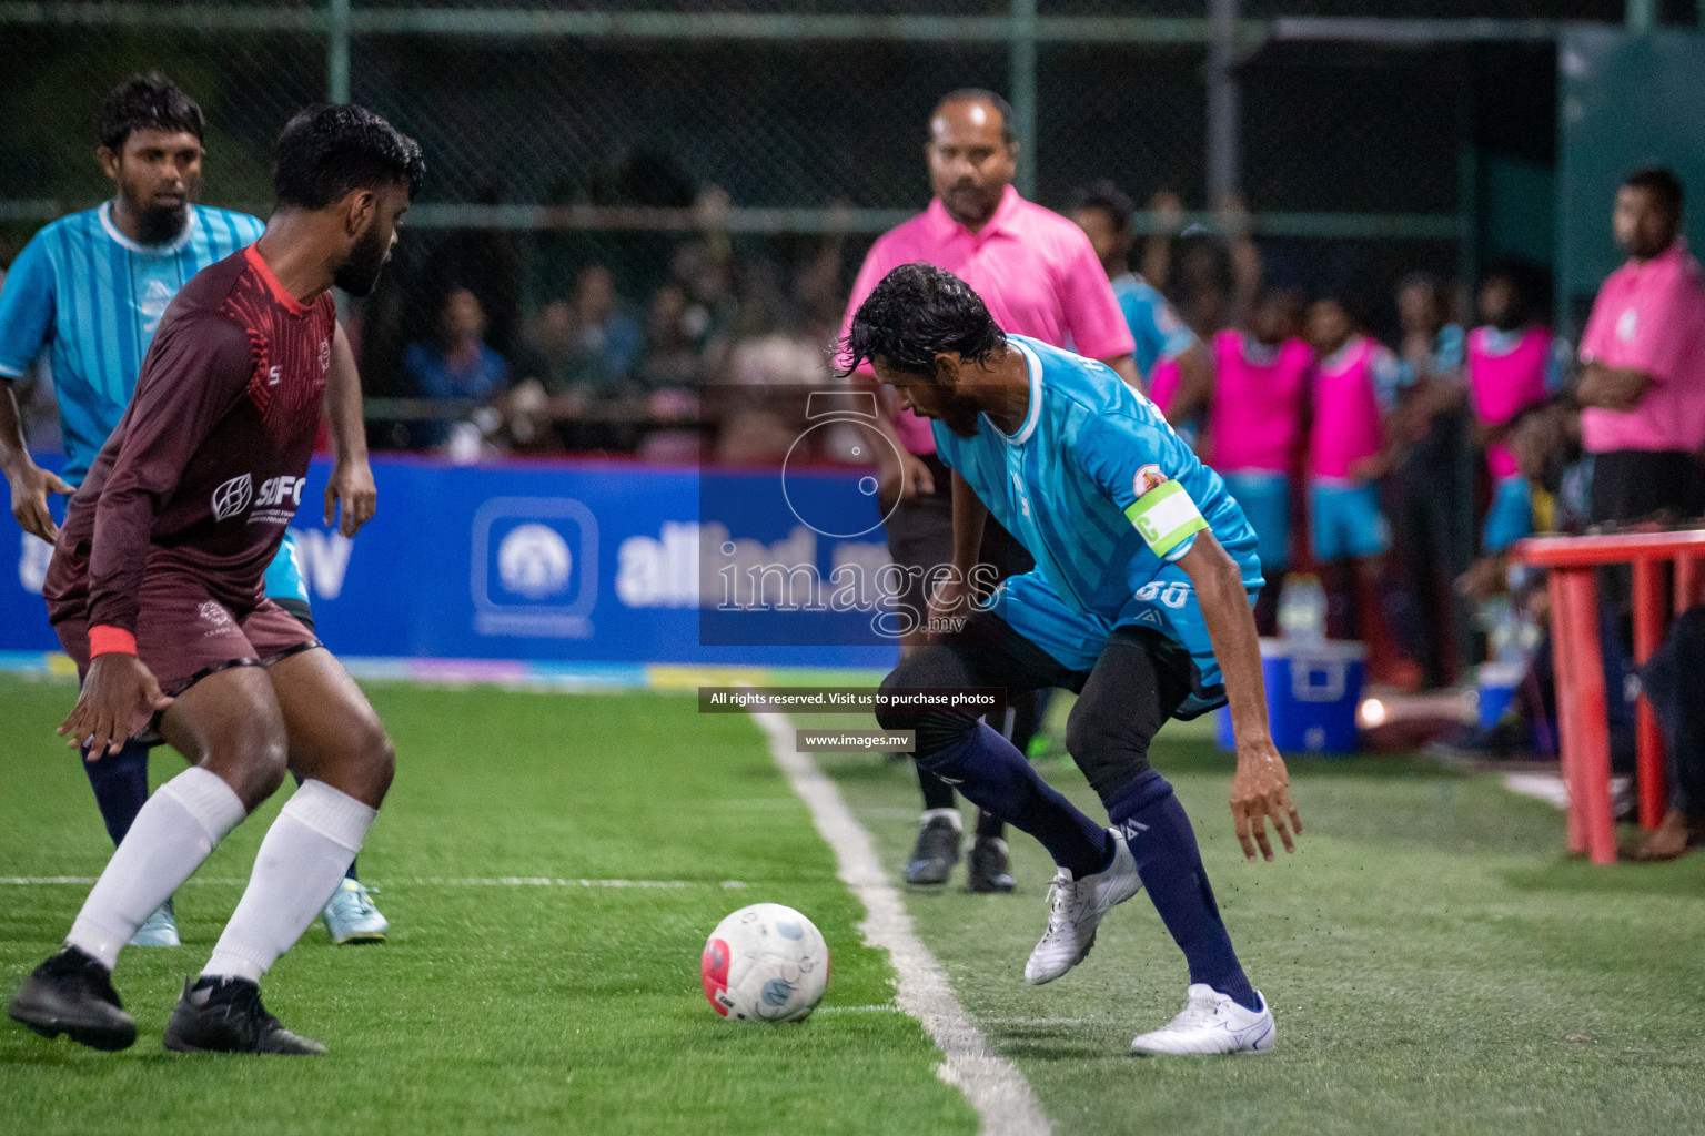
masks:
[[[1141,390],[1132,361],[1136,342],[1089,238],[1064,216],[1025,201],[1013,189],[1018,138],[1006,99],[975,89],[945,95],[929,116],[924,157],[936,196],[928,209],[871,245],[852,283],[841,334],[851,330],[852,315],[883,276],[902,264],[926,261],[968,283],[1001,330],[1101,359]],[[863,378],[875,383],[868,366]],[[928,610],[926,574],[953,564],[951,477],[936,458],[926,419],[899,410],[883,426],[902,455],[899,467],[881,470],[880,489],[883,508],[899,497],[887,523],[888,552],[907,572],[907,594],[899,601],[922,615]],[[1032,567],[1030,554],[992,521],[984,531],[982,560],[996,565],[1001,577]],[[909,635],[905,645],[924,639],[921,632]],[[1013,743],[1020,749],[1028,746],[1025,734],[1038,724],[1037,705],[1018,707],[1028,710],[1030,719],[1014,724]],[[945,884],[960,855],[953,787],[922,770],[919,783],[924,823],[905,865],[905,881]],[[979,819],[970,855],[974,891],[1013,887],[1003,831],[994,818]]]

